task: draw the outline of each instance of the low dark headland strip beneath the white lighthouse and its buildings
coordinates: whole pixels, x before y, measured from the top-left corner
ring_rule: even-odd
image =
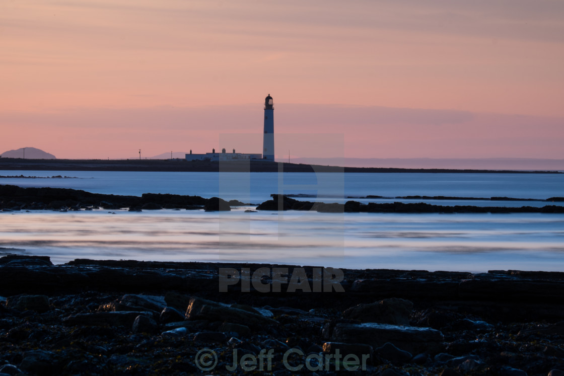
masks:
[[[186,160],[59,160],[0,158],[0,170],[35,171],[186,171],[186,172],[427,172],[427,173],[506,173],[561,174],[559,171],[515,171],[472,169],[400,169],[386,167],[340,167],[302,163]]]

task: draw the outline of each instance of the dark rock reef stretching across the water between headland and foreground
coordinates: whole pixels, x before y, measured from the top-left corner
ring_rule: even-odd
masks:
[[[324,202],[299,201],[290,196],[271,194],[272,200],[259,204],[257,210],[307,210],[320,213],[564,213],[564,206],[550,205],[564,201],[563,197],[550,197],[546,200],[530,198],[491,197],[488,200],[500,201],[544,201],[542,207],[521,206],[474,206],[474,205],[431,205],[424,202],[404,203],[393,202],[377,204],[370,202],[362,204],[359,201],[347,201],[345,204],[327,204]],[[368,196],[379,198],[380,196]],[[429,197],[409,196],[398,198]],[[434,200],[479,200],[472,197],[439,197]],[[238,200],[226,201],[219,197],[203,198],[200,196],[183,196],[180,194],[144,193],[138,196],[120,196],[115,194],[100,194],[69,188],[21,188],[16,185],[0,185],[0,210],[58,210],[80,211],[94,209],[127,209],[129,211],[158,210],[158,209],[186,209],[206,211],[230,211],[232,206],[250,206]],[[256,204],[255,204],[256,205]]]

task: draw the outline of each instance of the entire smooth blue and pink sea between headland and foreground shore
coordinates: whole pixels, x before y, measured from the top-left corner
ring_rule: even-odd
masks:
[[[564,174],[0,171],[0,184],[140,196],[239,200],[204,210],[0,213],[0,254],[278,263],[355,269],[564,271],[564,214],[377,214],[255,211],[271,194],[320,202],[544,206],[564,202]],[[51,178],[61,176],[61,178]],[[420,197],[412,197],[420,196]],[[437,200],[433,197],[452,197]],[[464,198],[482,198],[465,200]]]

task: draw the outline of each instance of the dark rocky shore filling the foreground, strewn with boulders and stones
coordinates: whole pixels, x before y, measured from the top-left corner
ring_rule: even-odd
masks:
[[[318,270],[7,255],[0,374],[563,374],[564,273]]]

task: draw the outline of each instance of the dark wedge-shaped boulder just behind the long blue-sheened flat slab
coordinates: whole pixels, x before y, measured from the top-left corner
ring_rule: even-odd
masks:
[[[347,319],[380,324],[409,325],[413,303],[406,299],[382,299],[371,304],[358,304],[343,312]]]

